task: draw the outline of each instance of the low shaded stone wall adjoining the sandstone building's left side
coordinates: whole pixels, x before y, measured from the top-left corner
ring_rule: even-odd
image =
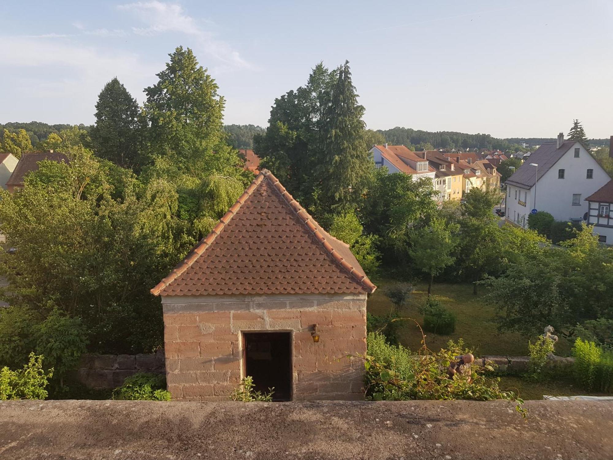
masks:
[[[116,388],[124,378],[137,372],[164,374],[164,350],[139,355],[83,355],[77,380],[92,389]]]

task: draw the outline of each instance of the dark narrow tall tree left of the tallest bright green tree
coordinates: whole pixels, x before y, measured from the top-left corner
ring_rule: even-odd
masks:
[[[121,167],[139,166],[139,104],[115,77],[98,95],[94,151]]]

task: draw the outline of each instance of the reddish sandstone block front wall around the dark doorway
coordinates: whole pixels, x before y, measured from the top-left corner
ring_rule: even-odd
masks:
[[[362,399],[364,363],[343,356],[366,351],[365,294],[166,296],[162,302],[166,377],[175,400],[227,400],[245,377],[242,331],[292,332],[295,401]]]

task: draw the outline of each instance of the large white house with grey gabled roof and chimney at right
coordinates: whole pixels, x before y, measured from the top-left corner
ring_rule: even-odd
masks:
[[[506,180],[505,216],[524,228],[532,209],[555,220],[581,221],[588,211],[585,198],[609,180],[580,142],[564,140],[560,132],[556,142],[541,145]]]

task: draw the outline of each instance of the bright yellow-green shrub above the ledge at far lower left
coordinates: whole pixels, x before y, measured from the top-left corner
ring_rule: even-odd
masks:
[[[47,397],[48,379],[53,376],[53,369],[42,368],[43,356],[30,353],[28,364],[23,369],[0,369],[0,401],[8,399],[45,399]]]

